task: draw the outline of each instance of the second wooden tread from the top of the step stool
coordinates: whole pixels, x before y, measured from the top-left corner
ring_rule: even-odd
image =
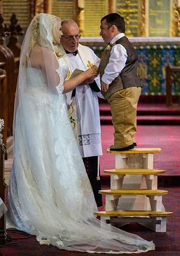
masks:
[[[116,174],[116,175],[148,175],[148,174],[160,174],[165,173],[165,170],[156,170],[156,169],[109,169],[104,170],[105,173]]]

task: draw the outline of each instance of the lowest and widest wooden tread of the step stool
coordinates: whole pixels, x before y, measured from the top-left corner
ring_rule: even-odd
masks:
[[[94,215],[97,216],[123,216],[123,217],[168,217],[172,216],[173,212],[156,212],[156,211],[100,211],[94,212]]]

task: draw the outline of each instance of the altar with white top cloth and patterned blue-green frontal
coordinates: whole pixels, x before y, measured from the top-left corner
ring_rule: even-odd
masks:
[[[138,74],[142,95],[166,95],[166,66],[180,66],[180,37],[129,37],[138,57]],[[98,57],[104,51],[102,38],[82,37],[80,44],[89,46]],[[172,85],[172,95],[179,95],[179,84]]]

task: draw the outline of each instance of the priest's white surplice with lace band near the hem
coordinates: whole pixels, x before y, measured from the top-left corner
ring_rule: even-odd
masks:
[[[70,73],[77,68],[82,71],[90,68],[91,64],[98,62],[99,58],[91,48],[80,45],[78,54],[66,54],[62,45],[58,47],[69,65]],[[100,78],[95,78],[100,87]],[[76,115],[77,133],[79,137],[79,150],[82,157],[101,156],[103,154],[101,146],[101,126],[98,97],[103,97],[101,93],[91,90],[89,85],[76,87]],[[72,103],[72,92],[67,93],[67,104]]]

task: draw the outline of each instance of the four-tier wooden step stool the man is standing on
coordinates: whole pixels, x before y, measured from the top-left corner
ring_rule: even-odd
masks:
[[[160,148],[136,148],[129,151],[110,151],[115,155],[116,169],[104,170],[110,173],[110,190],[105,194],[105,211],[95,212],[106,223],[137,222],[156,232],[166,232],[166,217],[162,204],[163,194],[157,190],[157,175],[165,170],[153,169],[153,154]]]

